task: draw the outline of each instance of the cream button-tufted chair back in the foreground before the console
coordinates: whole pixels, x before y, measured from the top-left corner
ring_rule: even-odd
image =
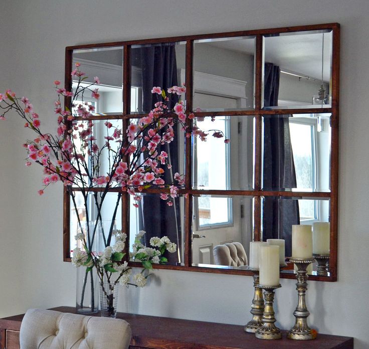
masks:
[[[21,324],[21,349],[126,349],[131,327],[121,319],[29,309]]]

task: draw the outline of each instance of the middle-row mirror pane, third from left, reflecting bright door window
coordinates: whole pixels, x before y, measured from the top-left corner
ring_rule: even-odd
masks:
[[[224,137],[213,137],[213,131],[207,132],[206,141],[194,137],[193,188],[252,190],[255,117],[197,117],[195,123],[205,132],[219,130]]]

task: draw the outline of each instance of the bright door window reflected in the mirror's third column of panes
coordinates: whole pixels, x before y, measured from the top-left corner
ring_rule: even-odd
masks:
[[[221,130],[229,137],[229,117],[217,117],[214,121],[207,117],[198,121],[205,130]],[[200,189],[230,189],[230,147],[224,141],[208,137],[206,142],[196,139],[194,185]],[[207,229],[232,224],[232,199],[201,197],[197,198],[199,228]]]

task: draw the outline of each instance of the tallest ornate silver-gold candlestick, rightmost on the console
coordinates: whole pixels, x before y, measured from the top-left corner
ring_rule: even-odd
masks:
[[[310,315],[306,307],[305,293],[307,290],[307,271],[306,268],[314,262],[313,258],[290,258],[290,262],[297,266],[297,284],[298,302],[293,315],[295,315],[295,325],[288,331],[287,338],[308,340],[314,339],[315,334],[307,325],[307,317]]]

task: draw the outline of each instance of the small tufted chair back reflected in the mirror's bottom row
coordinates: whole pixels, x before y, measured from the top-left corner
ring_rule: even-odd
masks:
[[[217,245],[213,249],[214,262],[217,265],[238,267],[247,265],[247,256],[240,242]]]

